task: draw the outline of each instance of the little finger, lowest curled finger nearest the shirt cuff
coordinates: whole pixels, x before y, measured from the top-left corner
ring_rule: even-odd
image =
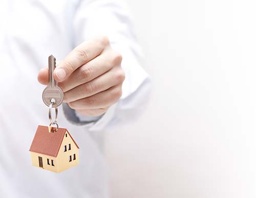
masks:
[[[118,85],[95,95],[68,103],[68,105],[76,111],[106,108],[116,103],[121,95],[122,88],[121,85]]]

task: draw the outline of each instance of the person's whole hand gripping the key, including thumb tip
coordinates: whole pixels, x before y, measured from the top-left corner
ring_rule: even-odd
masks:
[[[98,116],[122,95],[124,71],[122,56],[105,36],[81,43],[54,70],[54,79],[64,92],[64,101],[78,113]],[[38,73],[38,81],[47,85],[48,67]]]

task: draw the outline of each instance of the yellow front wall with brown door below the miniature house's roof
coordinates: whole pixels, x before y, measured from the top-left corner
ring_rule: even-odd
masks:
[[[32,160],[32,165],[33,166],[57,172],[58,163],[57,163],[57,160],[56,160],[55,157],[48,156],[48,155],[43,155],[43,154],[38,154],[38,153],[34,153],[34,152],[30,152],[30,154],[31,154],[31,160]],[[38,156],[42,157],[42,166],[43,167],[39,167]],[[50,159],[50,165],[47,164],[47,158]],[[52,166],[52,161],[51,160],[54,160],[54,166]]]

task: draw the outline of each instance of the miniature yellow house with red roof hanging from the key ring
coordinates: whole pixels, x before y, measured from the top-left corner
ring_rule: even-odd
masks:
[[[78,145],[67,129],[38,126],[30,154],[32,165],[61,172],[79,163]]]

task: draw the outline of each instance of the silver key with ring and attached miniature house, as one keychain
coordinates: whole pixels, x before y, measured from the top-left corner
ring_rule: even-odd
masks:
[[[42,92],[42,100],[49,107],[50,125],[37,127],[29,151],[33,166],[61,172],[79,163],[79,147],[68,130],[58,126],[58,106],[61,105],[64,95],[53,78],[56,67],[54,56],[49,56],[48,65],[49,84]],[[52,109],[55,109],[55,119],[52,119]]]

